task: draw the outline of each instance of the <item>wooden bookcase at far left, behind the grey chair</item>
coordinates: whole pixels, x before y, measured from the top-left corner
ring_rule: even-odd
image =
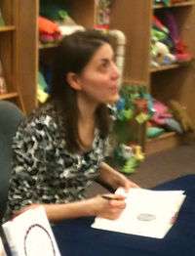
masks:
[[[36,107],[37,3],[0,1],[5,21],[0,27],[0,60],[8,91],[0,95],[0,100],[12,101],[24,112]]]

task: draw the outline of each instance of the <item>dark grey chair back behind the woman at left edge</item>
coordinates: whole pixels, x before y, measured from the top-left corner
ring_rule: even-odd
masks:
[[[0,221],[6,208],[12,170],[12,140],[22,118],[19,107],[0,101]]]

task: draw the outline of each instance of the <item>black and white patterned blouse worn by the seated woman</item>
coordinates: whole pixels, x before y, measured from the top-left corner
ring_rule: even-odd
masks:
[[[13,144],[7,216],[31,203],[66,203],[85,197],[98,178],[106,141],[96,131],[93,148],[70,153],[50,104],[20,124]]]

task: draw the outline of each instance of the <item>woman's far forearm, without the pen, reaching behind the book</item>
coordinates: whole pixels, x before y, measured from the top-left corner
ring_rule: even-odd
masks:
[[[114,190],[118,189],[119,187],[123,187],[127,191],[130,188],[138,188],[136,183],[130,181],[123,174],[121,174],[118,171],[114,170],[111,166],[109,166],[105,162],[102,162],[100,164],[100,176],[99,176],[99,179],[103,183],[106,183],[109,186],[111,186]]]

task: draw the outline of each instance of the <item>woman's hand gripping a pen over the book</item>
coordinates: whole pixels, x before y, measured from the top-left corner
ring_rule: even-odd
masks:
[[[103,198],[101,195],[91,199],[95,216],[109,220],[118,219],[126,207],[126,197],[121,194],[113,193],[107,193],[105,196],[111,199]]]

